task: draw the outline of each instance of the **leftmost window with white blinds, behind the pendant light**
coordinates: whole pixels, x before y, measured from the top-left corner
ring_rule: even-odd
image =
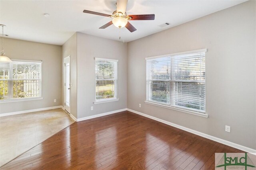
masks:
[[[40,98],[42,62],[0,62],[0,102]]]

